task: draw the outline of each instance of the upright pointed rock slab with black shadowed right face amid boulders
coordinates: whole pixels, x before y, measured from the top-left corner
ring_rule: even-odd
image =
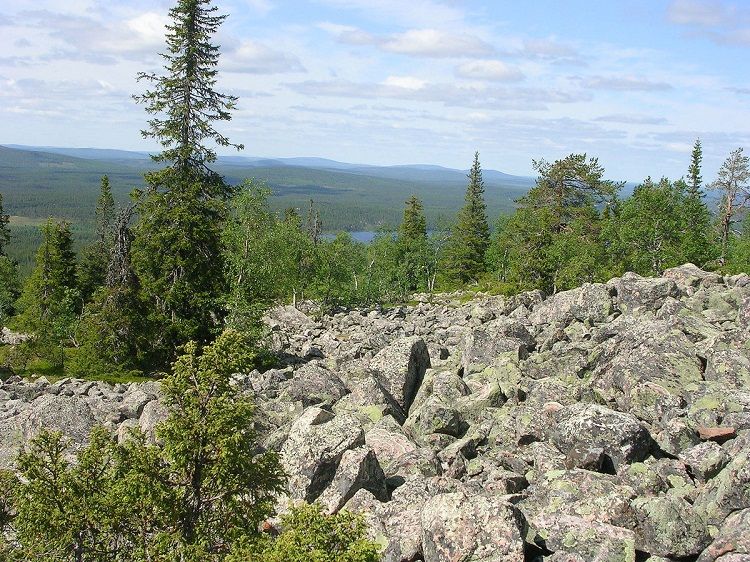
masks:
[[[427,344],[419,337],[397,340],[370,361],[370,369],[404,412],[409,411],[429,367]]]

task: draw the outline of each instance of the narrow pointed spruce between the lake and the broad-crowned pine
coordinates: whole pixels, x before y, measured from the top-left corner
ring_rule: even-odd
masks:
[[[490,244],[490,227],[487,223],[487,205],[484,202],[484,180],[479,164],[479,152],[474,153],[474,163],[468,178],[465,203],[458,213],[458,221],[446,252],[449,275],[463,283],[477,280],[484,272],[484,258]]]

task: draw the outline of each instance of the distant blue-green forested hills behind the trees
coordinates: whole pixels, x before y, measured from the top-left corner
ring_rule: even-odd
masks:
[[[64,218],[73,222],[78,243],[88,242],[99,182],[108,175],[116,200],[124,203],[143,173],[155,169],[148,154],[122,150],[0,146],[0,193],[12,222],[11,255],[27,272],[38,243],[39,220]],[[422,198],[428,222],[450,220],[463,204],[466,172],[438,166],[362,166],[320,158],[220,158],[215,169],[232,184],[246,178],[268,183],[271,205],[306,212],[317,204],[323,228],[372,231],[397,225],[404,201]],[[513,208],[513,201],[533,184],[531,178],[486,171],[486,200],[490,217]]]

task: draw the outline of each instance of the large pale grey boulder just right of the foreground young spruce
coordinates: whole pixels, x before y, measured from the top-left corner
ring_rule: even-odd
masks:
[[[365,443],[356,418],[312,406],[294,422],[281,449],[289,495],[312,502],[333,480],[341,457]]]

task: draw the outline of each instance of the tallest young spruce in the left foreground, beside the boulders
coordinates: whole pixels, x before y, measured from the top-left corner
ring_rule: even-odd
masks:
[[[253,406],[231,375],[254,367],[247,337],[228,330],[202,353],[189,343],[162,383],[169,418],[150,477],[165,496],[179,546],[221,549],[257,528],[283,490],[275,453],[258,454]]]

